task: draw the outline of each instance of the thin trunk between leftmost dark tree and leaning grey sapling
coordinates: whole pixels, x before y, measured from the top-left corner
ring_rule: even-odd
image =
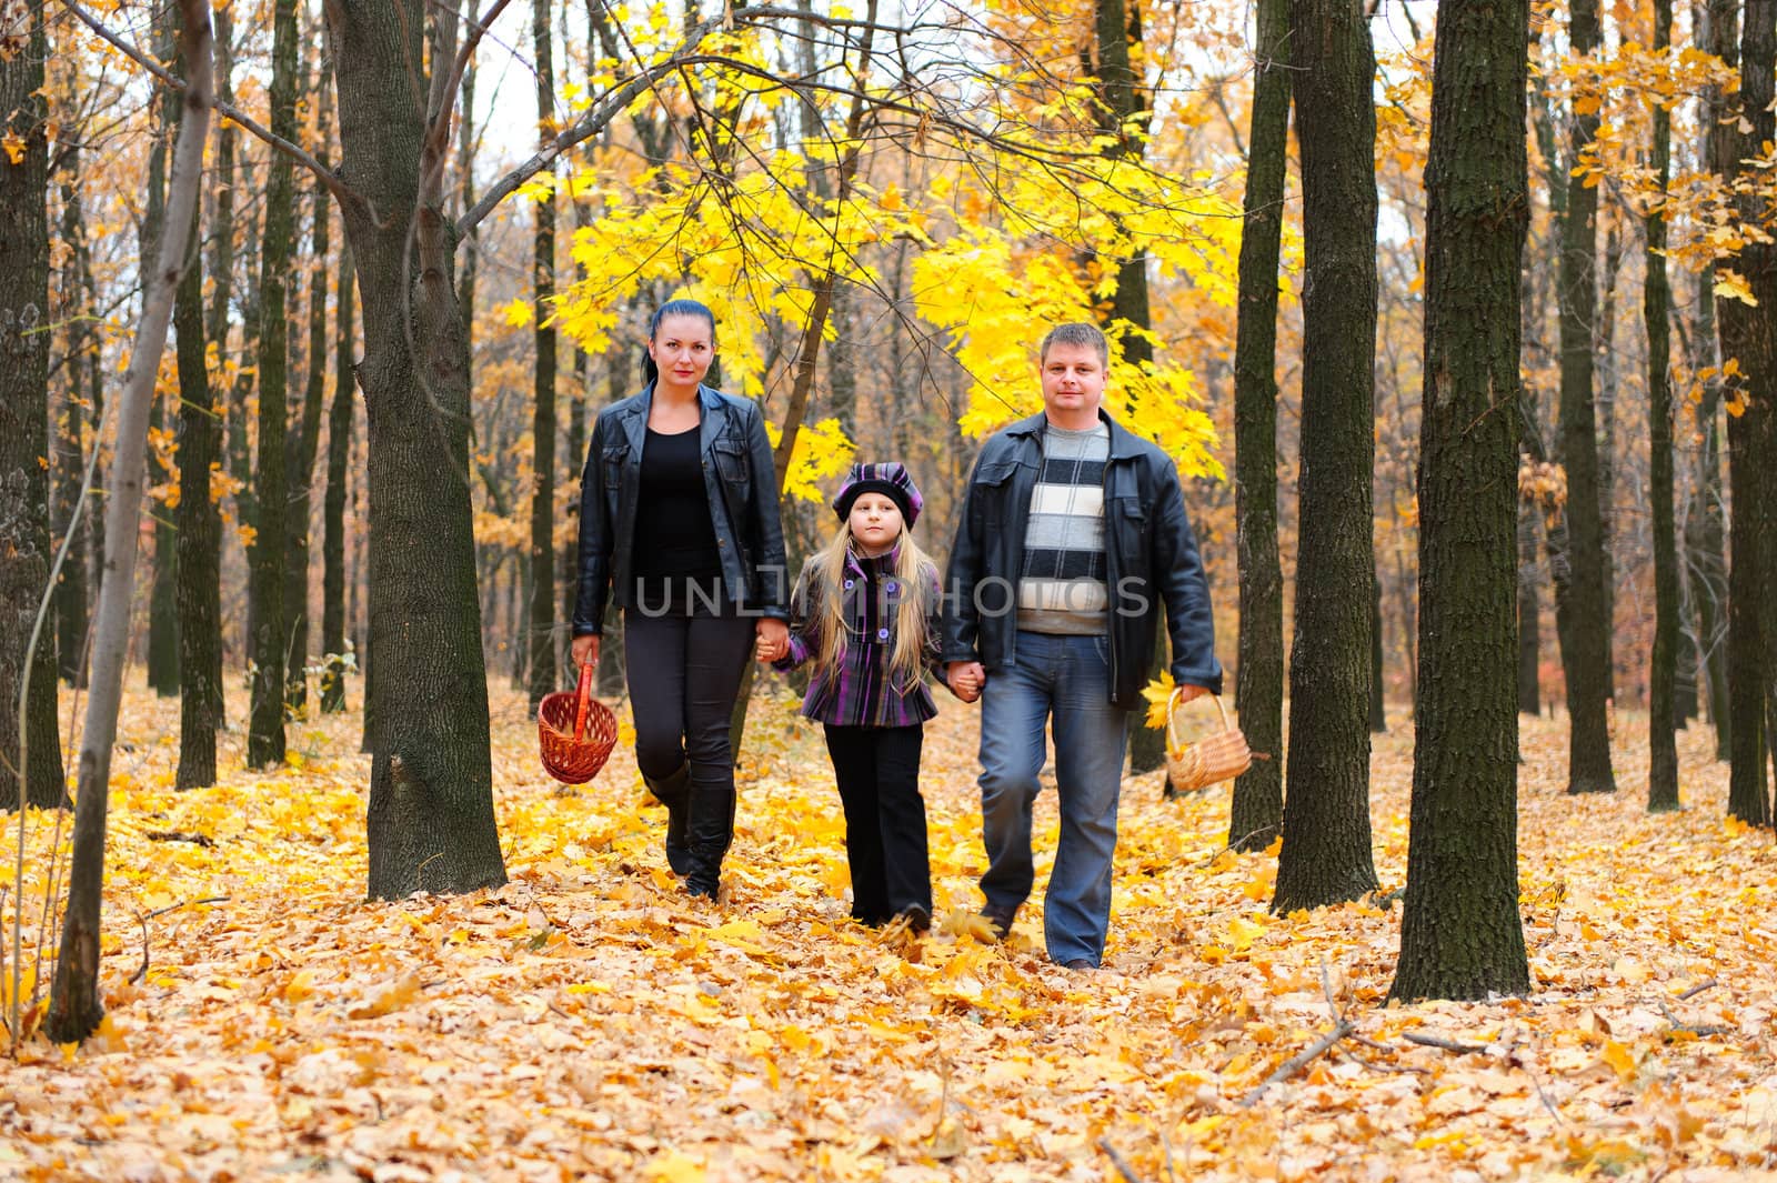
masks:
[[[68,174],[80,172],[78,147],[68,149]],[[55,654],[62,680],[73,687],[87,686],[87,558],[91,554],[92,508],[82,504],[84,476],[87,467],[85,412],[92,412],[92,448],[98,439],[98,407],[89,407],[82,398],[80,384],[85,378],[89,359],[98,350],[87,316],[92,314],[92,302],[87,297],[85,279],[89,266],[87,226],[80,210],[80,187],[62,185],[62,243],[68,247],[68,265],[62,272],[64,316],[68,323],[68,394],[62,400],[60,430],[57,432],[57,517],[52,524],[52,545],[68,535],[69,522],[76,522],[75,538],[62,563],[62,579],[55,590]]]

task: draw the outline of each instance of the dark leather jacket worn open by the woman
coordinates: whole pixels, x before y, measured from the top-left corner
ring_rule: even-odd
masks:
[[[716,528],[721,583],[729,600],[764,616],[789,620],[789,574],[784,570],[784,526],[778,519],[777,467],[764,416],[750,398],[697,387],[702,403],[704,490]],[[631,552],[636,494],[641,487],[641,444],[649,430],[654,387],[599,412],[579,478],[579,593],[574,636],[597,634],[606,597],[629,607],[634,597]]]

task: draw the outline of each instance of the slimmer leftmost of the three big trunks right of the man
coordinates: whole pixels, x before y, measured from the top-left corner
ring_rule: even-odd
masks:
[[[1235,705],[1253,751],[1233,782],[1228,846],[1263,851],[1283,826],[1283,568],[1278,560],[1278,259],[1290,158],[1290,0],[1258,0],[1240,304],[1233,352],[1233,488],[1240,556]]]

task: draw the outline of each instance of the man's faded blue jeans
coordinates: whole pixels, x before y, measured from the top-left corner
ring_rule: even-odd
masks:
[[[1043,902],[1043,936],[1057,965],[1098,965],[1111,924],[1111,856],[1123,787],[1128,712],[1111,705],[1102,636],[1018,632],[1015,663],[981,695],[981,831],[988,906],[1011,913],[1031,897],[1031,806],[1043,771],[1043,725],[1056,719],[1061,838]]]

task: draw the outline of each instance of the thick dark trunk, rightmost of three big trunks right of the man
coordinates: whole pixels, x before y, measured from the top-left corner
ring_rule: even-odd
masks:
[[[1390,991],[1402,1000],[1530,989],[1518,917],[1512,668],[1528,7],[1454,4],[1438,14],[1425,162],[1420,702]]]

